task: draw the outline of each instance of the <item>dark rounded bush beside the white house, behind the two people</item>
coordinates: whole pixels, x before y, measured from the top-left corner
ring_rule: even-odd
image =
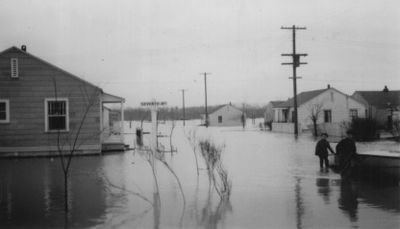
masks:
[[[349,130],[357,141],[373,141],[379,138],[378,123],[371,118],[355,118],[350,123]]]

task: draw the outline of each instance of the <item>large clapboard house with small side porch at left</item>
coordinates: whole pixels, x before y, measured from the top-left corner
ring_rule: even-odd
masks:
[[[6,49],[0,52],[0,157],[49,156],[72,148],[98,154],[110,137],[104,104],[118,103],[122,111],[124,102],[28,53],[26,46]],[[117,143],[123,145],[122,135]]]

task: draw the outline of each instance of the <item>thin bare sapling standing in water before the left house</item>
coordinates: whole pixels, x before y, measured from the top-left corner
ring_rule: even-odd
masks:
[[[55,78],[52,78],[53,86],[54,86],[54,96],[55,101],[58,102],[59,93],[57,82]],[[99,88],[95,88],[91,92],[87,90],[85,85],[80,87],[83,107],[82,112],[80,113],[80,117],[77,119],[74,127],[69,129],[68,132],[60,130],[57,128],[57,152],[61,162],[61,168],[64,175],[64,210],[67,213],[69,211],[68,206],[68,178],[69,172],[71,168],[72,158],[75,155],[76,151],[80,149],[80,147],[90,139],[93,139],[97,136],[100,136],[101,130],[94,132],[89,136],[82,136],[81,131],[83,125],[87,121],[88,114],[90,111],[98,106],[98,98],[101,94],[101,90]]]

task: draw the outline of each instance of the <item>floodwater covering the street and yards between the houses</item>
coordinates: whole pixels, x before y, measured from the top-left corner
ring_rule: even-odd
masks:
[[[136,125],[126,123],[126,132],[133,133]],[[160,132],[169,131],[170,125],[160,125]],[[198,151],[197,175],[187,138],[194,131],[198,139],[224,145],[229,199],[220,200],[210,187]],[[126,141],[132,146],[133,134]],[[172,143],[177,152],[165,152],[164,160],[179,178],[183,195],[174,175],[157,160],[153,176],[145,151],[76,157],[67,214],[59,158],[0,160],[0,228],[400,227],[399,186],[343,182],[333,171],[320,171],[309,137],[295,140],[251,125],[243,131],[179,124]],[[168,137],[160,144],[170,149]]]

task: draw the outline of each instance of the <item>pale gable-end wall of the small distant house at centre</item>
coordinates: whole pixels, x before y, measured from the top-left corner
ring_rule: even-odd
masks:
[[[218,123],[218,116],[222,116],[222,123]],[[240,126],[242,125],[242,111],[226,105],[208,115],[210,126]]]

